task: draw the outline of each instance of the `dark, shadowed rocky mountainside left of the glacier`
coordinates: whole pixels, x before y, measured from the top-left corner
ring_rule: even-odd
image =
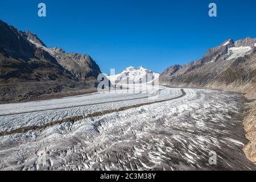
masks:
[[[99,73],[89,55],[48,49],[38,36],[0,20],[0,102],[34,100],[73,88],[92,89]]]

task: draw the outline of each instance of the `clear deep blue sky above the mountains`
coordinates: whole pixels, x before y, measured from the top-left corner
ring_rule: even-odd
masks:
[[[39,18],[38,3],[47,6]],[[217,18],[208,16],[210,2]],[[89,54],[102,72],[128,66],[156,72],[200,59],[226,39],[256,37],[254,0],[1,0],[0,19],[48,47]]]

